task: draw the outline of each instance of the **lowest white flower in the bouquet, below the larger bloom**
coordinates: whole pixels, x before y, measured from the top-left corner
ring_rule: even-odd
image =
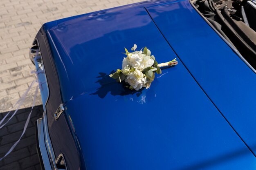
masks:
[[[130,73],[124,81],[129,83],[132,88],[134,88],[136,91],[144,87],[144,77],[143,73],[139,71],[138,69],[135,69],[134,72]]]

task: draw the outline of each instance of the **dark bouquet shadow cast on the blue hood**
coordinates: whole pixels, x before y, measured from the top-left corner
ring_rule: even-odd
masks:
[[[115,71],[111,71],[110,74],[115,73]],[[144,88],[141,88],[139,91],[130,90],[127,88],[127,84],[122,82],[119,83],[115,81],[115,79],[112,79],[109,77],[110,74],[106,73],[99,73],[98,80],[95,83],[99,83],[101,86],[97,88],[97,91],[94,93],[91,93],[90,95],[98,95],[101,99],[106,97],[108,93],[110,93],[113,96],[124,96],[124,95],[136,95],[139,97],[142,94],[142,90]]]

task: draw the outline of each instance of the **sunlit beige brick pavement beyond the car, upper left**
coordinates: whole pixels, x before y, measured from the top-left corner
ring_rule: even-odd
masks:
[[[13,105],[33,81],[29,47],[43,23],[144,0],[1,0],[0,113]],[[32,91],[34,91],[35,86]],[[41,104],[38,94],[36,105]],[[29,93],[21,108],[30,107]]]

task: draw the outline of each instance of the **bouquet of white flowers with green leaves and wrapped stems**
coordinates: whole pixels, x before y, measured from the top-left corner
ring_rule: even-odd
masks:
[[[178,64],[176,58],[170,62],[158,64],[154,55],[151,55],[150,50],[145,47],[144,50],[135,51],[137,45],[132,47],[132,53],[128,52],[126,48],[127,57],[124,58],[122,69],[109,76],[117,79],[117,82],[125,81],[129,84],[128,88],[138,91],[142,87],[149,88],[155,79],[155,73],[161,74],[161,68],[168,66],[175,66]]]

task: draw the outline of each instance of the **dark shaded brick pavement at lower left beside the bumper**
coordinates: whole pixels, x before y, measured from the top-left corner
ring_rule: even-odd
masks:
[[[18,110],[11,121],[0,129],[0,157],[3,157],[19,139],[30,111],[31,108]],[[7,112],[0,114],[0,119],[6,114]],[[34,121],[42,117],[42,115],[43,106],[34,107],[29,125],[20,142],[7,157],[0,161],[1,170],[40,170],[39,159],[36,152]]]

